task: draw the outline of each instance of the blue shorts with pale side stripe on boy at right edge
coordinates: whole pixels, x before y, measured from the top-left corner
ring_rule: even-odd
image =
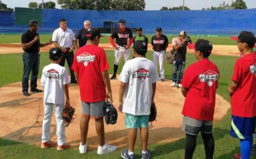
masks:
[[[248,139],[255,132],[255,117],[238,117],[232,115],[230,136],[239,139]]]

